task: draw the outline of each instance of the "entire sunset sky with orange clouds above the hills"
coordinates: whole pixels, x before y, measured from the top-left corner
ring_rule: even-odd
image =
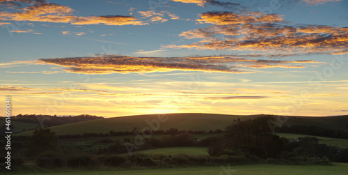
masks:
[[[345,0],[0,0],[12,113],[348,114]]]

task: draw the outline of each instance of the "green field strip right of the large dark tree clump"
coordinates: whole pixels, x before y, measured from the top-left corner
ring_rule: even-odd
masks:
[[[287,139],[296,139],[298,137],[317,137],[319,140],[319,144],[329,144],[330,146],[337,146],[341,149],[348,149],[348,139],[335,139],[330,137],[318,137],[311,135],[297,135],[297,134],[288,134],[288,133],[276,133],[280,137],[285,137]]]

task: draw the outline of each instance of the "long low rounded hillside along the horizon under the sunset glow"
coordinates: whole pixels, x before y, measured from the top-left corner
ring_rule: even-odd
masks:
[[[76,135],[87,133],[106,133],[114,131],[131,131],[137,128],[139,131],[149,127],[146,122],[157,120],[159,114],[122,116],[108,119],[96,119],[93,121],[81,121],[65,125],[50,127],[58,135]],[[159,122],[159,130],[177,128],[179,130],[225,130],[231,125],[233,120],[254,119],[264,115],[225,115],[225,114],[165,114],[168,117],[166,122]],[[283,116],[284,117],[284,116]],[[281,119],[284,119],[281,117]],[[277,121],[277,116],[274,116]],[[310,116],[287,116],[288,126],[291,125],[319,125],[324,128],[348,130],[348,116],[329,116],[329,117],[310,117]],[[155,125],[155,124],[154,124]],[[156,125],[155,125],[156,126]],[[31,132],[22,132],[17,135],[31,135]]]

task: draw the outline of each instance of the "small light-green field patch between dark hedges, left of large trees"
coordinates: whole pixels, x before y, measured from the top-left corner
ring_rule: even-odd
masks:
[[[205,147],[171,147],[161,149],[148,149],[144,151],[134,151],[134,153],[175,155],[184,153],[187,155],[209,155]]]

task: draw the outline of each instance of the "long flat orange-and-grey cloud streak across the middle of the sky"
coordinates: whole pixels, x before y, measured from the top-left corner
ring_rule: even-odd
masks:
[[[134,57],[106,55],[61,59],[39,59],[39,64],[63,66],[68,73],[111,74],[203,71],[220,73],[252,73],[243,68],[305,68],[303,63],[320,63],[312,60],[276,61],[240,59],[240,56],[191,56],[191,57]],[[296,63],[296,65],[293,65]]]

